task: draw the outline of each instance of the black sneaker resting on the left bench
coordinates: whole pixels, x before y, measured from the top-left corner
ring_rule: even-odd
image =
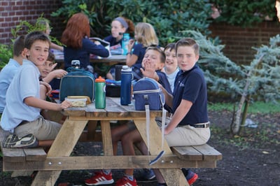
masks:
[[[27,134],[22,138],[15,134],[10,134],[3,141],[4,148],[36,148],[37,146],[38,140],[33,134]]]

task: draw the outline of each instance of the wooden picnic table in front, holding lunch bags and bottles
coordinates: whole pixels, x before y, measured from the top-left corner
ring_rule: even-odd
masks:
[[[120,98],[106,97],[104,109],[96,109],[94,103],[90,103],[85,108],[68,108],[62,113],[67,118],[46,156],[40,156],[39,152],[37,154],[32,152],[30,155],[30,152],[23,149],[19,159],[18,153],[11,152],[19,149],[2,148],[3,171],[37,170],[38,173],[32,185],[55,185],[62,170],[155,168],[160,169],[167,185],[181,186],[188,185],[181,168],[215,168],[216,161],[222,158],[220,152],[207,144],[169,148],[165,141],[162,148],[161,131],[155,122],[155,117],[162,115],[161,110],[151,110],[150,113],[151,155],[114,156],[110,120],[134,120],[142,138],[148,144],[146,112],[134,110],[133,104],[120,105]],[[101,124],[104,155],[70,157],[73,148],[81,138],[87,138],[87,140],[97,138],[97,121]],[[87,129],[87,134],[85,134],[85,129]],[[160,161],[149,165],[151,159],[155,159],[162,150],[165,150],[165,155]]]

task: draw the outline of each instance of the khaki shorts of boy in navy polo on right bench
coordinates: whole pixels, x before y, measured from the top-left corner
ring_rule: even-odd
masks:
[[[195,128],[190,125],[176,127],[172,132],[165,135],[169,147],[203,145],[210,138],[210,129]]]

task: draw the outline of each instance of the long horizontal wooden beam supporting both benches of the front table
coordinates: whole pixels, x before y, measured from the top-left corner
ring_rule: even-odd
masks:
[[[60,170],[85,169],[163,169],[174,172],[181,168],[215,168],[216,161],[193,161],[180,159],[176,155],[163,156],[159,162],[149,165],[156,156],[88,156],[88,157],[47,157],[43,162],[5,162],[3,171],[39,170],[42,173]],[[167,171],[168,173],[168,171]],[[43,175],[42,175],[43,176]]]

